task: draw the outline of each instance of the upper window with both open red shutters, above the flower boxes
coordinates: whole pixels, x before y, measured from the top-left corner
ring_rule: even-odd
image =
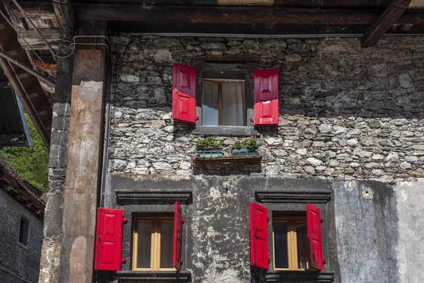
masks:
[[[205,71],[201,76],[196,100],[196,68],[172,65],[173,120],[216,126],[247,126],[250,121],[254,126],[278,125],[278,70]]]

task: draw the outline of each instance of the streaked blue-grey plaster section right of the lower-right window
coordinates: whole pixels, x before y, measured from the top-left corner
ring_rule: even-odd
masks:
[[[358,180],[335,182],[333,190],[341,282],[400,282],[396,192]]]

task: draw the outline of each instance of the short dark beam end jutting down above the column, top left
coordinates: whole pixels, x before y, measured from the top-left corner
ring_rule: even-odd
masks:
[[[72,37],[75,33],[76,20],[73,16],[71,0],[52,0],[52,3],[62,33],[65,37]]]

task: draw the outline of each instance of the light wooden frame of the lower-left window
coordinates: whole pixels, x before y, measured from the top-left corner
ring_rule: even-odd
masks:
[[[137,251],[139,248],[139,222],[151,222],[151,267],[150,268],[137,268]],[[175,267],[160,268],[160,223],[171,222],[174,223],[172,216],[158,216],[158,217],[136,217],[134,219],[133,228],[133,249],[132,249],[132,270],[139,271],[176,271]]]

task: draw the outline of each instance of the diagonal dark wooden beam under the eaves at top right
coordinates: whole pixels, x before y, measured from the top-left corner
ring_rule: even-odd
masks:
[[[361,46],[372,47],[377,45],[377,42],[383,37],[384,33],[387,33],[391,25],[396,23],[399,17],[406,11],[409,4],[411,4],[411,0],[394,0],[367,30],[360,42]]]

